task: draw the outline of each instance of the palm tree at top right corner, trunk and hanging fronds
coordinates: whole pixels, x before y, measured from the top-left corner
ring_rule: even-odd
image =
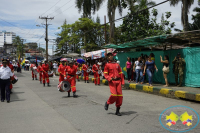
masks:
[[[181,9],[181,22],[183,25],[183,31],[188,31],[189,22],[188,22],[188,13],[189,9],[194,3],[194,0],[170,0],[171,6],[176,6],[179,2],[182,2]]]

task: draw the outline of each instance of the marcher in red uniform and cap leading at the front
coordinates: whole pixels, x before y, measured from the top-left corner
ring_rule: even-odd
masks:
[[[122,87],[124,87],[124,76],[120,65],[113,61],[113,54],[107,54],[108,63],[104,68],[104,76],[108,80],[111,95],[105,103],[105,110],[108,110],[109,104],[116,103],[115,115],[121,116],[120,107],[122,105],[123,95]]]

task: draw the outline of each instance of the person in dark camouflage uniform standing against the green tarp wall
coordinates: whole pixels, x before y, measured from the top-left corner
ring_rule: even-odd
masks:
[[[176,86],[181,87],[183,83],[183,72],[185,66],[185,60],[181,58],[181,54],[178,53],[177,56],[172,61],[174,64],[174,74],[175,74],[175,82]],[[178,75],[179,75],[179,84],[178,84]]]

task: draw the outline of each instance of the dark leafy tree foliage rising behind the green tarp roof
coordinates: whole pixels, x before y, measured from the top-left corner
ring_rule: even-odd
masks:
[[[140,6],[138,5],[138,7]],[[123,24],[121,25],[122,42],[170,34],[171,28],[175,26],[174,22],[170,23],[170,21],[168,21],[171,12],[166,12],[165,15],[163,14],[160,23],[157,23],[157,9],[152,9],[151,13],[148,10],[138,14],[134,14],[133,12],[135,11],[130,10],[128,17],[124,18]]]

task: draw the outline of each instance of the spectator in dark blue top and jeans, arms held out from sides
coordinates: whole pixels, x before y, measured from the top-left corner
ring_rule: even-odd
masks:
[[[153,74],[154,74],[155,69],[156,71],[158,71],[155,62],[151,60],[151,56],[149,56],[144,67],[144,74],[147,73],[149,77],[149,86],[152,86]]]

